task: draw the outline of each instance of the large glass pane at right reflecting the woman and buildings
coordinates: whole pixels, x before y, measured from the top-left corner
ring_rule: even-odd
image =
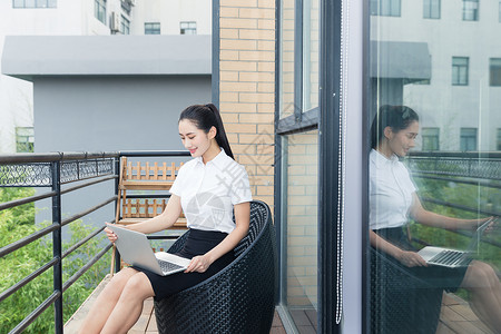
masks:
[[[371,4],[381,8],[382,2],[373,0]],[[458,306],[468,312],[454,313],[454,322],[461,323],[463,332],[495,328],[495,323],[477,308],[488,307],[489,301],[477,299],[474,289],[459,287],[462,273],[432,266],[416,268],[401,257],[413,257],[424,246],[468,249],[474,227],[501,212],[497,173],[501,94],[499,87],[492,87],[499,82],[501,66],[501,29],[495,18],[499,1],[490,2],[492,16],[489,20],[482,17],[481,24],[460,17],[463,13],[465,19],[478,20],[479,1],[444,1],[446,8],[440,20],[428,18],[432,17],[432,3],[438,2],[402,0],[402,10],[410,11],[406,20],[370,13],[365,17],[370,45],[364,46],[369,65],[364,71],[364,82],[369,82],[364,106],[369,126],[363,131],[370,134],[372,121],[381,121],[373,127],[374,145],[367,147],[365,156],[369,205],[362,213],[366,218],[364,233],[370,236],[363,256],[370,254],[364,284],[370,299],[365,311],[371,317],[366,332],[371,333],[446,332],[443,324],[451,321],[448,313]],[[431,70],[433,80],[416,85],[430,79]],[[389,128],[390,120],[399,125],[393,122]],[[391,173],[396,166],[402,177]],[[415,198],[421,207],[415,206]],[[450,217],[446,220],[453,228],[423,219],[418,214],[423,210]],[[460,230],[466,222],[474,224],[469,230]],[[499,235],[484,234],[475,239],[479,244],[471,256],[492,268],[489,275],[499,282],[494,274],[501,267]],[[450,278],[456,279],[452,288]],[[449,298],[458,306],[452,307]]]

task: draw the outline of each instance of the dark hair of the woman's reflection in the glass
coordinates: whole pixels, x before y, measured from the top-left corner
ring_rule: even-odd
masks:
[[[371,147],[376,148],[384,136],[384,128],[390,127],[394,132],[406,129],[413,121],[419,121],[418,114],[405,106],[381,106],[371,127]]]

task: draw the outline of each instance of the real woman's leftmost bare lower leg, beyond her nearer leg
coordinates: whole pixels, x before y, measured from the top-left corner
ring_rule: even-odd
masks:
[[[97,297],[87,317],[80,327],[80,333],[100,333],[106,321],[115,308],[124,287],[137,271],[132,268],[124,268],[106,285]]]

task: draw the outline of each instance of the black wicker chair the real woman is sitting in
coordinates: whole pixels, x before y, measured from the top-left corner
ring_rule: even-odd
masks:
[[[168,252],[180,249],[185,233]],[[269,207],[250,203],[247,236],[236,259],[205,282],[164,299],[155,299],[160,334],[269,334],[275,311],[276,246]]]

